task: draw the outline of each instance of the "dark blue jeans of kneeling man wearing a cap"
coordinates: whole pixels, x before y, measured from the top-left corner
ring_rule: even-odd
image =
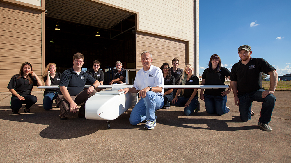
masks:
[[[238,96],[239,98],[239,113],[240,119],[243,122],[247,122],[251,119],[252,102],[262,102],[261,117],[259,122],[262,124],[268,124],[271,121],[273,109],[275,107],[276,97],[273,94],[269,94],[267,97],[262,98],[263,89],[253,91]]]

